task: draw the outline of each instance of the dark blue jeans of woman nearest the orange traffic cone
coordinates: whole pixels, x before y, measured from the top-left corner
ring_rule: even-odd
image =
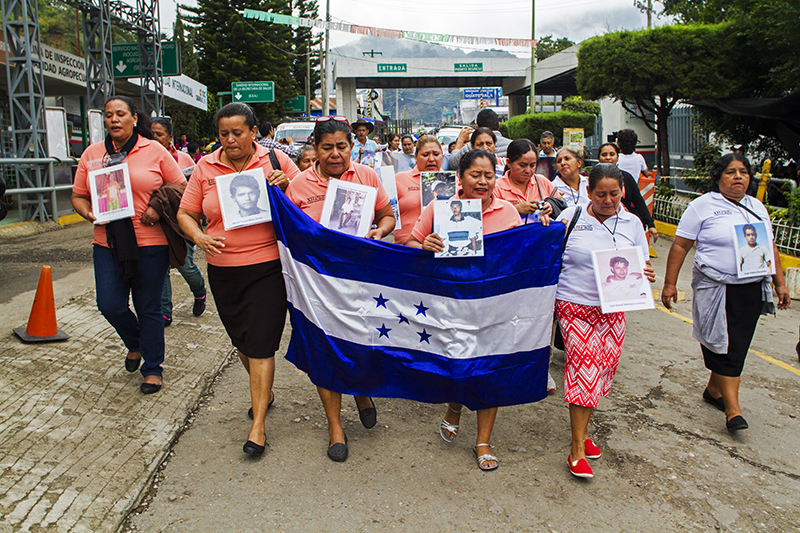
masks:
[[[164,362],[164,318],[161,316],[161,290],[169,269],[166,246],[140,246],[139,267],[142,287],[133,289],[119,277],[119,267],[111,250],[94,245],[94,282],[97,308],[114,326],[129,352],[142,353],[143,376],[160,376]],[[133,294],[133,307],[128,297]]]

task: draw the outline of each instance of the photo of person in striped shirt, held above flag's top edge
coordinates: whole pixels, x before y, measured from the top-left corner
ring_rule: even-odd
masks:
[[[444,242],[434,257],[483,255],[483,213],[480,200],[435,200],[433,232]]]

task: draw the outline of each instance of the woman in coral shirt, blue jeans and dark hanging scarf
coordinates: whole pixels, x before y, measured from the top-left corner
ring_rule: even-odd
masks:
[[[110,98],[103,110],[105,141],[89,146],[81,156],[72,187],[75,211],[94,222],[89,172],[127,164],[131,188],[120,192],[111,180],[112,198],[133,199],[134,216],[94,227],[93,260],[97,307],[128,350],[125,369],[135,372],[142,364],[143,394],[161,389],[164,362],[164,319],[161,289],[169,268],[167,238],[160,225],[144,216],[150,194],[164,182],[184,183],[178,164],[153,140],[150,120],[126,96]],[[98,191],[99,192],[99,191]],[[109,200],[110,201],[110,200]],[[136,312],[128,306],[130,296]]]

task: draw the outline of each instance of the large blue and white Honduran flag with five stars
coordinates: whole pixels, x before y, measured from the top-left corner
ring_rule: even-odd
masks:
[[[541,400],[564,225],[484,238],[483,257],[352,237],[268,187],[292,336],[320,387],[483,409]]]

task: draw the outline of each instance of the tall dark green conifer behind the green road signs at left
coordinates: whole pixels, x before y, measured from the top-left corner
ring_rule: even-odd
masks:
[[[290,26],[245,19],[244,9],[291,14],[291,6],[277,0],[198,0],[186,22],[196,29],[195,47],[200,81],[212,93],[230,91],[234,81],[272,81],[275,102],[254,104],[259,120],[278,121],[285,104],[300,94],[292,78]]]

